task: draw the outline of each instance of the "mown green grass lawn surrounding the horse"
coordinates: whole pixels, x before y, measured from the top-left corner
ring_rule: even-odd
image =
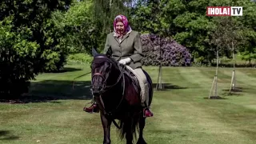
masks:
[[[33,102],[0,103],[0,143],[10,144],[98,144],[102,143],[99,114],[86,114],[90,102],[88,66],[67,66],[70,71],[38,75],[30,94]],[[158,67],[145,68],[154,83]],[[153,118],[147,118],[145,138],[149,144],[253,144],[256,143],[256,69],[237,69],[242,92],[228,95],[232,69],[221,68],[218,95],[206,99],[214,68],[164,67],[166,90],[154,91]],[[85,86],[86,85],[86,86]],[[51,101],[35,101],[46,97]],[[112,126],[111,140],[118,139]]]

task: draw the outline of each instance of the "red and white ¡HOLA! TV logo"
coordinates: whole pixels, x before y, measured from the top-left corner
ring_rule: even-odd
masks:
[[[207,16],[242,16],[242,6],[207,6]]]

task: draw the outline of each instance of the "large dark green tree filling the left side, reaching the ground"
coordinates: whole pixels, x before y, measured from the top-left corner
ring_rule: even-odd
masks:
[[[67,10],[70,2],[0,2],[1,97],[18,97],[35,75],[62,67],[66,50],[59,45],[62,35],[50,18],[55,10]]]

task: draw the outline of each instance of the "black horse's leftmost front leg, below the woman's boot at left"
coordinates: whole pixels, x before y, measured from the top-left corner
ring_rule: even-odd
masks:
[[[103,140],[103,144],[110,144],[111,140],[110,140],[110,126],[111,126],[111,120],[106,118],[106,116],[104,114],[102,114],[101,112],[101,120],[102,120],[102,127],[104,130],[104,140]]]

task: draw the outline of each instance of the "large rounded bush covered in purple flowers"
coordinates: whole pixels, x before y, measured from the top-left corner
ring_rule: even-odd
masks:
[[[145,58],[142,59],[144,66],[190,66],[191,54],[186,47],[178,44],[173,39],[160,38],[154,34],[142,34],[142,47]]]

